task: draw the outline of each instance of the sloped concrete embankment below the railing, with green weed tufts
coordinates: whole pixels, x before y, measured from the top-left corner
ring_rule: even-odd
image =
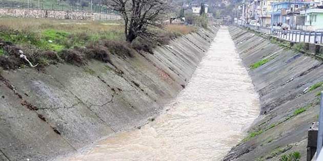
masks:
[[[307,131],[319,111],[322,62],[247,30],[231,27],[230,33],[259,93],[261,112],[224,160],[279,160],[296,151],[306,160]]]

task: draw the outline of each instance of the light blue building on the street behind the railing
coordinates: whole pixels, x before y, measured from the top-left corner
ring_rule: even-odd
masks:
[[[277,24],[287,24],[289,16],[287,14],[287,10],[290,8],[306,8],[306,6],[310,5],[309,2],[299,2],[299,1],[285,1],[278,2],[272,4],[271,14],[271,23],[276,26]]]

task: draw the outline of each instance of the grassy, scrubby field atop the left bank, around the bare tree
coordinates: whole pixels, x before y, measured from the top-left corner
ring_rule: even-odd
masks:
[[[35,18],[0,18],[0,66],[15,69],[28,64],[19,58],[18,50],[39,66],[60,61],[85,64],[86,58],[110,62],[110,54],[124,58],[138,51],[152,53],[157,45],[194,32],[194,27],[165,26],[152,29],[154,38],[125,41],[124,25],[120,22],[52,20]],[[111,63],[111,62],[110,62]]]

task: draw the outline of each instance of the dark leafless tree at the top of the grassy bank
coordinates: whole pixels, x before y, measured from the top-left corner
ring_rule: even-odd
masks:
[[[168,0],[105,0],[106,5],[119,12],[125,21],[128,42],[136,37],[151,34],[150,26],[159,26],[168,9]]]

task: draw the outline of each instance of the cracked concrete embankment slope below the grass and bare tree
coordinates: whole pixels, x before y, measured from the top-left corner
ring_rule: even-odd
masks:
[[[0,75],[0,160],[49,160],[147,123],[185,88],[217,27],[154,54],[66,63]]]

